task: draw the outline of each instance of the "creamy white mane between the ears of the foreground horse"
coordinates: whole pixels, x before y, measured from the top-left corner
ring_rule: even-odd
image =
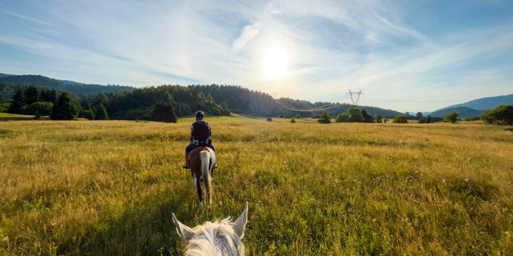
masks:
[[[231,218],[215,222],[207,221],[193,230],[196,236],[189,241],[185,255],[245,255],[244,244],[233,231]],[[216,244],[226,244],[226,246],[220,247],[228,248],[229,251],[218,251],[215,247]]]

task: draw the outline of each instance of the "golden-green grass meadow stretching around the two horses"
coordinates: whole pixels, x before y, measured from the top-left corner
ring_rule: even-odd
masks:
[[[207,118],[219,168],[198,209],[192,118],[0,122],[0,254],[183,252],[249,202],[249,255],[511,254],[513,132],[481,122]]]

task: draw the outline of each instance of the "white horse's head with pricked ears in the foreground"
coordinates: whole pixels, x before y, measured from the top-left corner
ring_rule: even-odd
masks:
[[[187,244],[184,255],[245,255],[242,238],[248,222],[248,202],[235,222],[228,217],[190,228],[176,220],[174,213],[173,222],[176,232]]]

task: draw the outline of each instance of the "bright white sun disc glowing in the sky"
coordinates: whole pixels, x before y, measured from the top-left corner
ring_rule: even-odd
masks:
[[[287,71],[287,53],[281,47],[271,46],[264,51],[262,72],[265,78],[276,80],[282,78]]]

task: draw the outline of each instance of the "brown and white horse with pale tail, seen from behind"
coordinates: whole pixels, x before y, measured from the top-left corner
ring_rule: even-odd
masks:
[[[200,198],[199,207],[203,207],[201,180],[205,184],[205,201],[207,207],[212,204],[212,173],[215,165],[215,152],[207,146],[199,146],[194,148],[187,157],[187,165],[191,168],[194,185],[198,189],[198,197]]]

